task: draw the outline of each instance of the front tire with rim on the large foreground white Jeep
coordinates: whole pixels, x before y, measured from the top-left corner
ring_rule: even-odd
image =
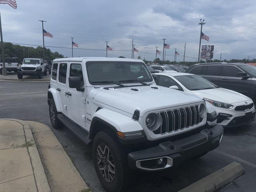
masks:
[[[128,183],[127,158],[114,132],[98,132],[93,142],[94,168],[107,192],[120,192]]]

